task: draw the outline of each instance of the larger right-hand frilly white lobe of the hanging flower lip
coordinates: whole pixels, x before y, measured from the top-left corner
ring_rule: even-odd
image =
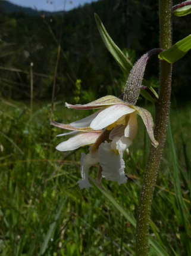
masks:
[[[115,153],[114,150],[111,149],[111,143],[105,141],[105,143],[99,146],[98,161],[103,169],[102,177],[107,180],[117,181],[119,185],[127,182],[121,149]]]

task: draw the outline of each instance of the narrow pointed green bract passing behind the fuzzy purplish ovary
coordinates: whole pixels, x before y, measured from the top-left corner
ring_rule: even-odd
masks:
[[[107,47],[109,53],[111,53],[112,57],[114,57],[115,61],[117,62],[118,66],[120,66],[121,70],[123,71],[124,75],[127,77],[129,76],[129,73],[133,67],[133,64],[131,61],[124,55],[123,51],[118,48],[118,46],[112,41],[111,37],[109,36],[107,30],[105,29],[102,21],[100,20],[98,14],[95,13],[95,20],[96,24],[98,26],[99,33],[101,35],[102,40],[104,41],[105,46]],[[152,93],[155,95],[156,98],[158,98],[158,94],[155,92],[155,90],[151,87],[151,85],[148,84],[148,82],[143,79],[143,85],[148,87]],[[146,93],[144,90],[140,90],[140,94],[145,97],[147,100],[151,102],[155,102],[156,100],[152,98],[151,94]]]

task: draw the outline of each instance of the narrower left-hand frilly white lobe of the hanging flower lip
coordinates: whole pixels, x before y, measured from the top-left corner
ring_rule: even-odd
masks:
[[[80,172],[82,180],[77,181],[79,184],[80,189],[89,189],[91,187],[91,184],[88,180],[88,171],[90,166],[95,165],[96,162],[98,162],[98,154],[81,154],[81,160],[80,160]]]

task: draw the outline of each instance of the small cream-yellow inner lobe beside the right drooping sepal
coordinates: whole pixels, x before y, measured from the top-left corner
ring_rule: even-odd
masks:
[[[127,123],[127,127],[124,131],[124,135],[125,137],[129,137],[131,138],[131,140],[134,140],[134,138],[137,135],[137,131],[138,131],[138,124],[137,124],[136,113],[131,113],[129,122]]]

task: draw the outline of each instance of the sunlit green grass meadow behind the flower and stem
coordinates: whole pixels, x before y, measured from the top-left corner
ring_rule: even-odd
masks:
[[[80,153],[58,152],[61,129],[49,125],[50,106],[0,103],[0,255],[134,255],[137,203],[149,139],[139,134],[125,155],[127,184],[92,179],[80,190]],[[151,108],[151,107],[149,107]],[[70,122],[86,111],[55,106],[54,118]],[[151,256],[191,255],[191,109],[172,107],[151,221]],[[96,177],[98,166],[90,170]]]

